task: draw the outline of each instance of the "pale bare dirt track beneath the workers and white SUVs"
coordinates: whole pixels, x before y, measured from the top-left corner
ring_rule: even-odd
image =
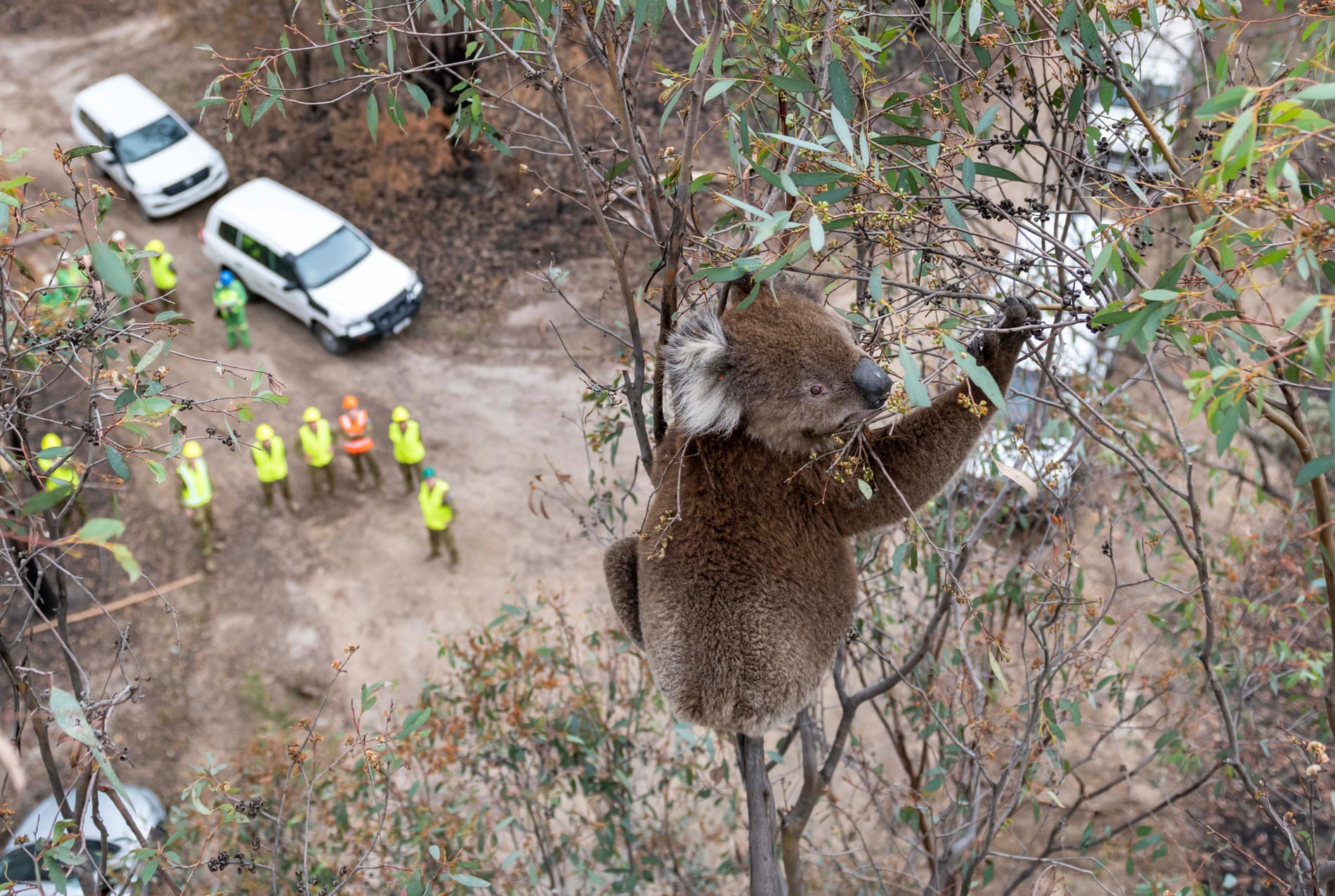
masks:
[[[202,93],[211,73],[208,60],[188,47],[158,47],[155,41],[168,31],[162,20],[136,16],[92,35],[7,36],[0,41],[5,150],[32,147],[21,167],[39,184],[59,191],[60,170],[49,152],[55,143],[71,146],[68,109],[77,89],[128,71],[168,96],[168,88],[159,84],[166,79],[184,79],[194,95]],[[246,132],[236,139],[246,140]],[[279,180],[284,175],[268,174]],[[155,236],[164,240],[182,274],[183,310],[199,322],[175,347],[200,358],[224,358],[222,326],[210,315],[216,271],[196,240],[207,204],[148,224],[117,203],[103,234],[123,227],[139,246]],[[55,247],[43,251],[53,260]],[[591,254],[595,247],[566,247],[570,256],[582,251]],[[567,292],[595,304],[610,268],[601,262],[565,266],[573,274]],[[227,537],[219,573],[171,596],[179,620],[155,602],[117,616],[121,625],[132,624],[139,662],[151,684],[148,700],[117,716],[113,736],[129,748],[139,776],[152,778],[164,796],[179,788],[186,764],[238,748],[275,708],[308,710],[310,697],[323,688],[330,662],[344,644],[362,646],[354,684],[398,680],[398,693],[411,700],[418,682],[431,674],[434,633],[459,633],[485,622],[502,602],[515,593],[533,594],[539,582],[563,590],[575,605],[602,604],[601,550],[578,537],[567,515],[553,513],[547,521],[527,506],[530,479],[547,471],[549,461],[567,473],[585,469],[579,430],[571,422],[581,413],[581,379],[547,322],[559,327],[577,354],[595,341],[559,299],[543,295],[522,271],[503,290],[513,310],[499,319],[493,315],[486,326],[475,315],[450,323],[447,312],[429,308],[400,338],[347,358],[326,354],[272,306],[252,303],[255,350],[226,355],[226,361],[242,367],[263,365],[291,399],[286,407],[260,406],[256,422],[272,423],[292,451],[306,405],[331,417],[340,397],[355,391],[371,411],[386,483],[379,495],[356,493],[350,465],[339,458],[338,502],[312,505],[304,470],[296,463],[292,482],[303,505],[300,515],[262,515],[248,453],[228,453],[219,443],[206,449],[218,522]],[[447,298],[427,295],[427,303]],[[427,332],[451,332],[453,338]],[[593,353],[585,350],[583,359],[590,358]],[[227,375],[220,379],[208,363],[174,362],[172,375],[190,381],[188,390],[199,395],[227,389]],[[246,377],[236,379],[244,390]],[[429,462],[454,489],[463,558],[457,573],[423,562],[427,545],[417,502],[405,495],[383,438],[388,411],[398,403],[422,421]],[[191,435],[218,423],[199,413],[183,419]],[[175,507],[175,478],[155,486],[140,467],[120,495],[131,545],[146,574],[159,584],[198,566],[192,534]],[[111,505],[95,497],[92,509],[107,514]],[[124,584],[124,577],[112,581],[120,584],[119,593],[100,598],[142,586]],[[95,620],[81,624],[76,637],[107,645],[115,632],[105,620]],[[100,682],[105,665],[89,672]]]

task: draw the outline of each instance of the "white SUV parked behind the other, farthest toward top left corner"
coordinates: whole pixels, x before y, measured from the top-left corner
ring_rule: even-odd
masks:
[[[79,143],[111,147],[89,159],[128,191],[144,218],[164,218],[218,192],[227,166],[218,150],[129,75],[75,95]]]

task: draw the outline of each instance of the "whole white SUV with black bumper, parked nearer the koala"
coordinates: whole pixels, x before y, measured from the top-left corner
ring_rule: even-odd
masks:
[[[315,331],[335,355],[402,332],[422,278],[332,211],[268,178],[208,210],[204,256]]]

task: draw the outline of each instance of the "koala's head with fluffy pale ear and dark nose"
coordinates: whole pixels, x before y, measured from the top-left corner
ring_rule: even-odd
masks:
[[[734,304],[748,291],[734,287]],[[890,391],[852,327],[788,278],[761,284],[745,308],[682,315],[662,361],[682,435],[741,429],[776,451],[812,450],[878,411]]]

